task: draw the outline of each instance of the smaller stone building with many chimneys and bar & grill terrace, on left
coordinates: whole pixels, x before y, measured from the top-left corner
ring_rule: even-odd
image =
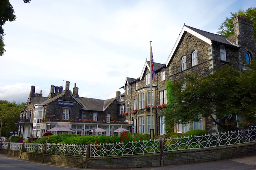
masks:
[[[64,91],[63,87],[51,85],[49,97],[43,97],[42,92],[35,93],[35,86],[31,87],[17,124],[20,137],[41,137],[53,127],[72,129],[77,135],[89,135],[93,127],[105,129],[103,135],[110,135],[112,126],[130,130],[131,125],[127,122],[117,121],[120,92],[108,100],[84,98],[78,95],[76,83],[71,94],[69,84],[66,81]]]

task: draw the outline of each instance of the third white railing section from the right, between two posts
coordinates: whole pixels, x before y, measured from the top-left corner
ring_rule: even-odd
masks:
[[[51,155],[72,155],[86,157],[87,145],[80,144],[47,144],[46,153]]]

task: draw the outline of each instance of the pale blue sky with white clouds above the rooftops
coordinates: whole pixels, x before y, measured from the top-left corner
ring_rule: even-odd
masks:
[[[115,97],[145,61],[166,63],[184,24],[217,33],[226,17],[254,0],[9,0],[16,20],[3,26],[0,100],[25,102],[30,88],[48,96],[70,81],[80,97]]]

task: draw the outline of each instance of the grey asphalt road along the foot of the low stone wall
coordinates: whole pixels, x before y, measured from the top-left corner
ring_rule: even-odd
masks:
[[[81,170],[38,163],[0,154],[0,170]],[[89,169],[88,169],[89,170]],[[154,168],[128,168],[127,170],[256,170],[256,156],[206,163],[176,164]]]

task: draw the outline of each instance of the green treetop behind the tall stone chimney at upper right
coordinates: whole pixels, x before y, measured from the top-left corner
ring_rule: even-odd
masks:
[[[223,35],[225,37],[230,37],[234,35],[234,25],[232,19],[236,17],[236,15],[241,15],[243,17],[247,17],[253,22],[253,32],[254,38],[256,39],[256,8],[248,8],[246,11],[239,9],[236,13],[231,12],[231,17],[226,17],[224,22],[219,26],[219,31],[217,33],[219,35]]]

